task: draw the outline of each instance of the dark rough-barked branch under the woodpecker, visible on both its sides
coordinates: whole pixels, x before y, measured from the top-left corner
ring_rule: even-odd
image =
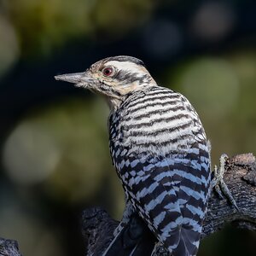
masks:
[[[207,216],[201,239],[221,230],[230,223],[238,228],[256,230],[256,161],[253,154],[239,154],[226,161],[224,182],[236,200],[239,211],[214,191],[208,201]],[[84,211],[83,230],[88,255],[102,255],[113,239],[113,230],[119,222],[108,216],[102,208]],[[159,247],[156,255],[168,255]]]

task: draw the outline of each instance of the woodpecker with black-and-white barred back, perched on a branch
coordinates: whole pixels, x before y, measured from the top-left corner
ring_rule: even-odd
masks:
[[[143,61],[125,55],[55,79],[108,102],[109,148],[126,201],[115,236],[136,212],[172,255],[196,255],[211,160],[201,120],[187,98],[158,85]]]

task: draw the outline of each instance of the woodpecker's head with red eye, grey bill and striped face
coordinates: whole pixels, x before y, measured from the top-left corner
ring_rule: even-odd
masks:
[[[111,108],[117,108],[127,94],[156,85],[143,61],[130,56],[109,57],[92,64],[85,72],[62,74],[55,79],[106,96]]]

